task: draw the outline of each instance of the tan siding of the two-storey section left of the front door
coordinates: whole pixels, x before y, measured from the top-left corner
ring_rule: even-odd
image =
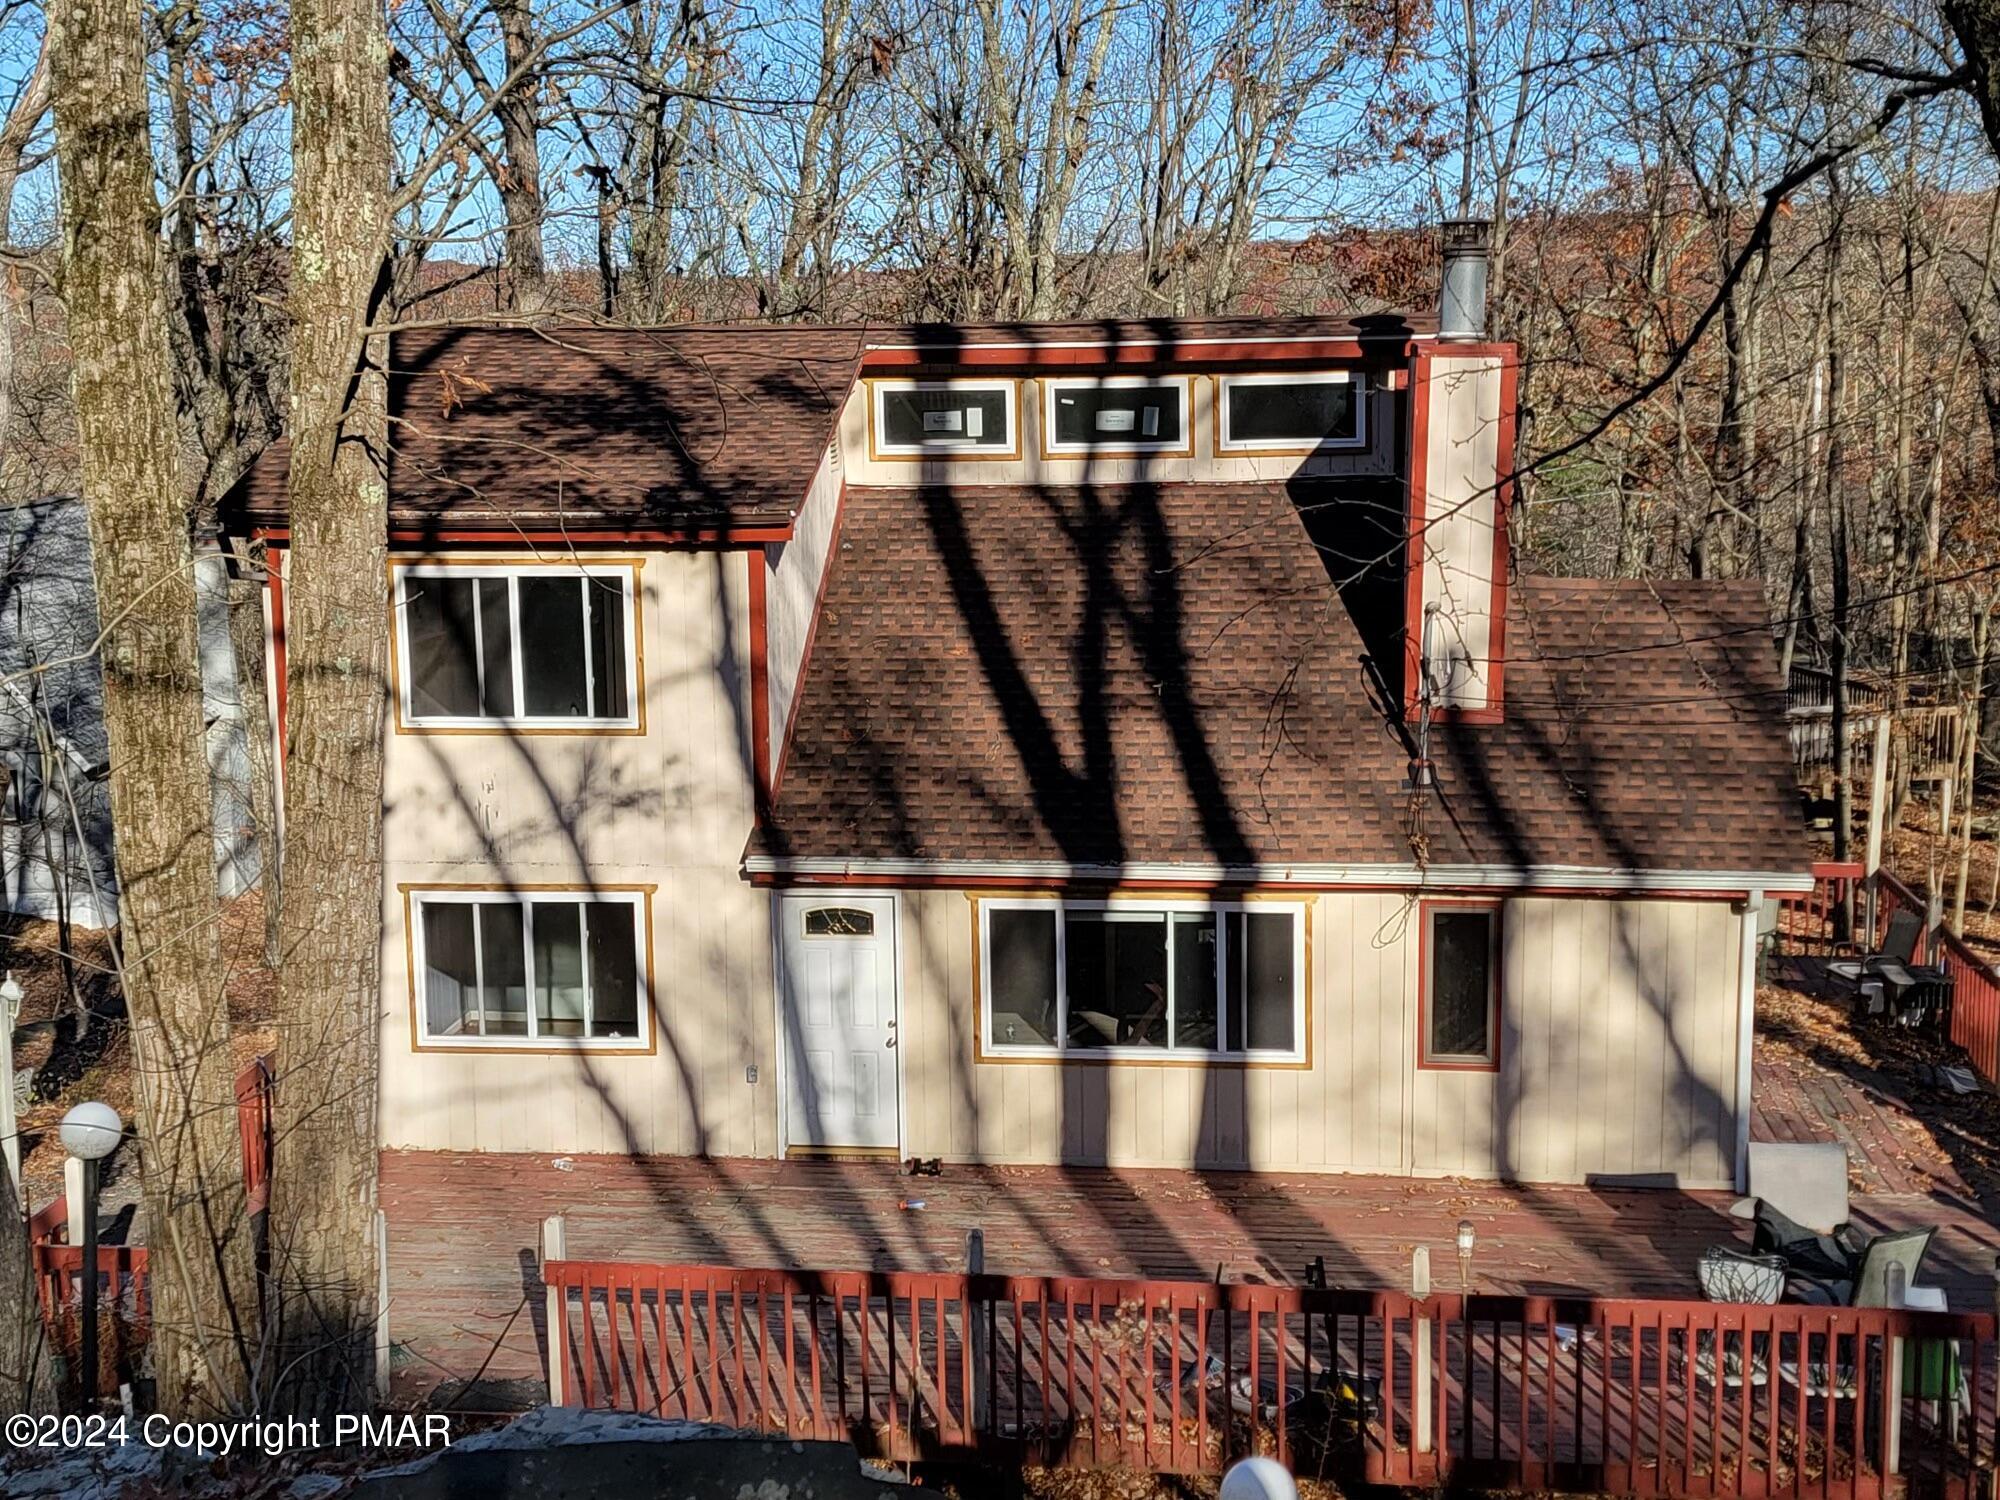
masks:
[[[738,872],[752,816],[750,562],[644,558],[644,734],[390,736],[386,1146],[776,1152],[770,898]],[[656,888],[654,1054],[412,1050],[400,886],[488,882]]]

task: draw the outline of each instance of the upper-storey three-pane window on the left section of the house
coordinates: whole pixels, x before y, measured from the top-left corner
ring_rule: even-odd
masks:
[[[394,580],[400,724],[638,726],[630,564],[406,562]]]

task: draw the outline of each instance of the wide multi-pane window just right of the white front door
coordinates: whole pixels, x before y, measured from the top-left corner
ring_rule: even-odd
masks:
[[[980,902],[980,1038],[996,1058],[1306,1056],[1306,906]]]

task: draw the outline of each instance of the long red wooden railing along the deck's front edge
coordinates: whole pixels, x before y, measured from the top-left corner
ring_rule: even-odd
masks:
[[[552,1398],[898,1460],[1972,1496],[1992,1316],[548,1260]]]

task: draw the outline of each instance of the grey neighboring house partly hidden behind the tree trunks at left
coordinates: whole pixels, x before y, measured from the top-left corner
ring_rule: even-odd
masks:
[[[236,710],[222,560],[196,560],[202,708],[224,896],[256,884],[250,762]],[[0,510],[0,764],[4,910],[84,928],[118,922],[104,676],[90,532],[76,496]]]

